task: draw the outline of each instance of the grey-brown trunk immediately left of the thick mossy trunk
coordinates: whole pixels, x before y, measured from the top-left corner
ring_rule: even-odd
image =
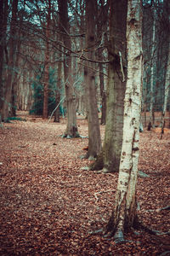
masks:
[[[86,0],[86,50],[88,59],[94,60],[95,46],[95,23],[94,23],[95,0]],[[97,108],[97,91],[95,85],[94,63],[87,62],[84,67],[85,97],[88,114],[88,153],[87,158],[94,158],[101,150],[101,138],[99,131],[99,116]]]

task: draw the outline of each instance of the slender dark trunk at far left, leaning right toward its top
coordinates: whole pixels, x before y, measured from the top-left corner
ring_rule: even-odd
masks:
[[[12,95],[12,84],[14,79],[14,49],[16,46],[15,38],[15,26],[16,26],[16,15],[18,10],[18,0],[14,0],[12,4],[12,19],[10,26],[10,38],[9,38],[9,55],[8,55],[8,75],[5,84],[5,94],[3,101],[2,119],[5,121],[8,119],[8,108],[11,108],[11,95]]]

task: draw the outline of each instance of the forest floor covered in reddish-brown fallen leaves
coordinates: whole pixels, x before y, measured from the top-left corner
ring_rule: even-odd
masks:
[[[24,117],[22,113],[22,117]],[[152,230],[131,230],[116,244],[90,232],[105,227],[118,174],[85,171],[84,138],[60,137],[60,123],[26,116],[0,127],[0,255],[170,255],[170,133],[140,135],[139,220]],[[104,138],[105,126],[101,126]]]

